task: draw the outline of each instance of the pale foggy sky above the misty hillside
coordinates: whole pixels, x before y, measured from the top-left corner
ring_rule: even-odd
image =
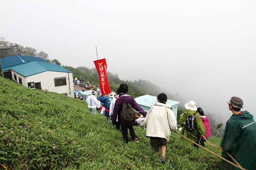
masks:
[[[0,36],[72,67],[95,46],[120,79],[146,79],[217,121],[226,101],[256,116],[255,1],[1,1]]]

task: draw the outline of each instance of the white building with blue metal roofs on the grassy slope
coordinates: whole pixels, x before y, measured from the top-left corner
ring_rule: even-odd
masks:
[[[2,76],[28,88],[74,96],[73,73],[39,57],[11,55],[0,59]]]

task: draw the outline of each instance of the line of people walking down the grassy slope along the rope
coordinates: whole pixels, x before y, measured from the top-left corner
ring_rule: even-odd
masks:
[[[99,90],[99,89],[98,89]],[[149,111],[144,111],[138,103],[128,94],[128,86],[121,84],[116,92],[106,95],[99,95],[98,99],[94,96],[97,92],[93,91],[88,97],[87,103],[92,114],[96,114],[96,107],[103,105],[105,108],[104,115],[108,124],[116,126],[121,130],[123,140],[128,143],[128,129],[131,139],[139,142],[134,126],[136,125],[135,111],[144,116],[141,126],[146,129],[146,136],[149,137],[151,148],[158,155],[161,148],[161,162],[165,163],[165,153],[167,143],[169,142],[171,131],[180,130],[180,133],[198,145],[205,147],[205,139],[211,136],[211,127],[209,120],[204,114],[201,107],[196,107],[194,101],[185,104],[186,110],[180,116],[176,117],[170,106],[166,104],[167,95],[161,93],[157,96],[157,101]],[[98,105],[98,106],[97,106]],[[232,162],[226,154],[231,154],[239,164],[247,169],[252,170],[256,165],[256,123],[253,116],[248,111],[241,111],[243,101],[239,97],[232,97],[228,102],[228,108],[233,113],[226,123],[224,135],[220,144],[222,148],[222,157]],[[181,128],[178,129],[177,122]],[[185,140],[185,139],[184,139]],[[198,148],[195,145],[195,148]],[[246,153],[246,154],[245,154]],[[222,161],[222,169],[236,169],[232,165]]]

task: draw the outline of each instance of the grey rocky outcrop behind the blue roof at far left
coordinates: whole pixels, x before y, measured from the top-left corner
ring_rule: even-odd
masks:
[[[8,41],[0,41],[0,58],[4,58],[8,55],[23,55],[25,49],[16,43],[11,43]]]

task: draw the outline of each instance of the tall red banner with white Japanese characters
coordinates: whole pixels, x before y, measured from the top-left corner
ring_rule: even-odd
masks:
[[[101,88],[101,94],[105,95],[105,94],[109,94],[110,88],[108,85],[108,77],[107,77],[107,63],[106,63],[106,59],[100,59],[100,60],[96,60],[93,61],[95,64],[95,67],[98,71],[99,74],[99,85]]]

